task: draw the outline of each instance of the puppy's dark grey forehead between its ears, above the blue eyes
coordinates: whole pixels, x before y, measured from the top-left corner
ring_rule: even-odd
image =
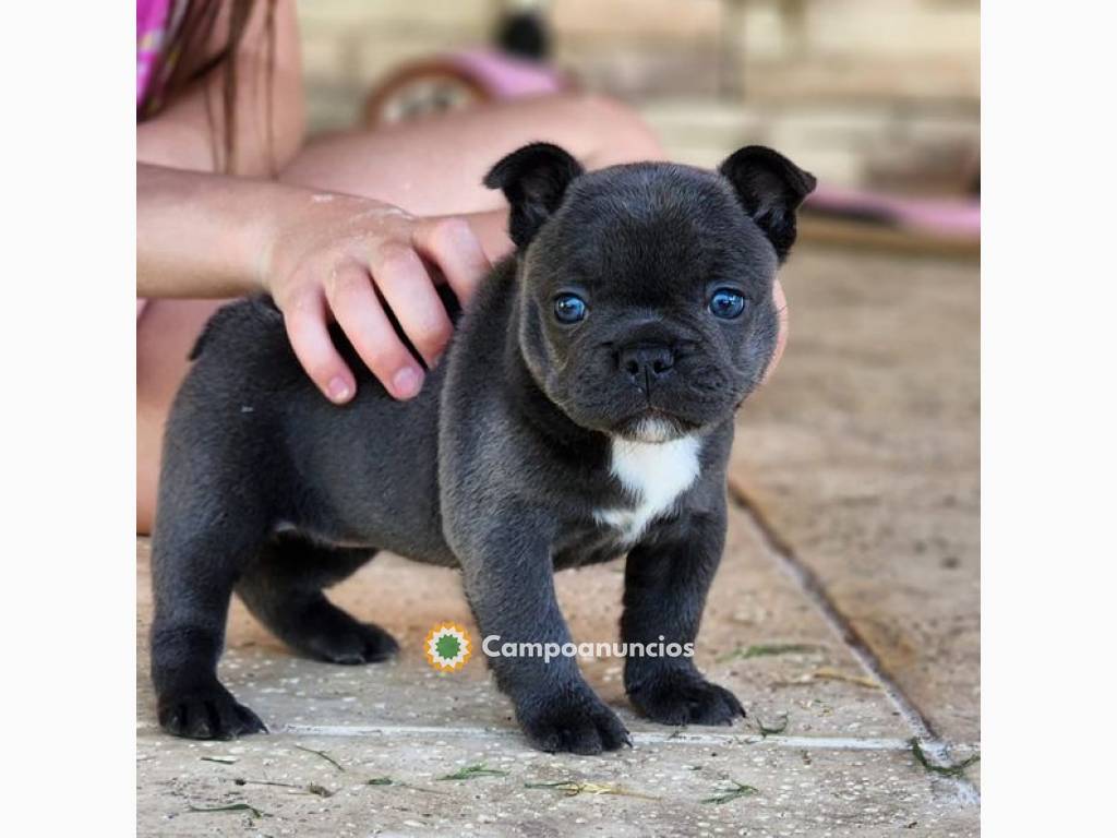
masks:
[[[662,163],[575,180],[527,256],[538,282],[648,304],[731,279],[761,293],[776,268],[724,178]]]

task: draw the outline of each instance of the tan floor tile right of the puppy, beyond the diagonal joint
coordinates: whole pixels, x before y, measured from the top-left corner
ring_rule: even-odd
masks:
[[[953,741],[980,736],[977,266],[803,248],[732,482]]]

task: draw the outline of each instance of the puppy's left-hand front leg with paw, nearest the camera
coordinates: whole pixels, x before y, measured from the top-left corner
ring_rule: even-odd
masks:
[[[483,637],[499,636],[534,650],[571,642],[555,598],[550,542],[543,522],[516,516],[497,522],[462,561],[466,593]],[[490,657],[497,685],[513,701],[516,720],[542,751],[595,754],[631,744],[617,714],[585,683],[573,657]]]

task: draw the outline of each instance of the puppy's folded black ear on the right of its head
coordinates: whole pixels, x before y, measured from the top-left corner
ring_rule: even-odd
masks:
[[[735,151],[717,170],[783,261],[795,242],[795,210],[814,190],[814,175],[763,145]]]

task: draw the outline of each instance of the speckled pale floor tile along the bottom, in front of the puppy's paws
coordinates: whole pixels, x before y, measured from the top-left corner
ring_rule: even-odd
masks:
[[[319,754],[327,754],[338,770]],[[140,835],[976,836],[976,810],[896,750],[641,744],[580,758],[499,737],[257,737],[139,742]],[[212,761],[220,760],[220,761]],[[438,778],[484,764],[504,775]],[[397,784],[370,785],[391,779]],[[238,781],[242,781],[238,783]],[[286,783],[287,785],[267,785]],[[735,781],[756,792],[704,803]],[[567,796],[572,782],[626,793]],[[404,783],[400,785],[398,783]],[[306,791],[315,787],[317,794]],[[294,787],[294,788],[292,788]],[[324,797],[328,794],[328,797]],[[247,803],[241,811],[192,811]]]

